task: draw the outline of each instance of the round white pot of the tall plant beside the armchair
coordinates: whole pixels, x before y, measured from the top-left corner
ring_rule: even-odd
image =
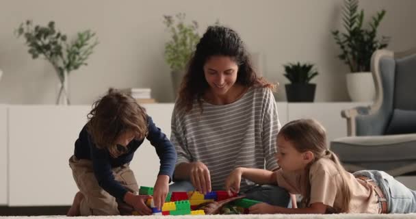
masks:
[[[374,79],[371,72],[348,73],[347,90],[353,102],[371,102],[376,96]]]

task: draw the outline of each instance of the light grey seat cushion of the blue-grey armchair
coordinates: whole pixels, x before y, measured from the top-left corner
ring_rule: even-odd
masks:
[[[398,176],[416,171],[416,134],[337,138],[330,149],[351,172],[383,170]]]

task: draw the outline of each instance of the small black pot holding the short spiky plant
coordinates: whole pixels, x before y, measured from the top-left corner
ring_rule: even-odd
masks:
[[[285,89],[288,102],[313,102],[315,99],[315,83],[287,83]]]

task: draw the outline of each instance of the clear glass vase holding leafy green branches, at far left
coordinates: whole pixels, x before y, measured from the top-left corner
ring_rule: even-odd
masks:
[[[28,52],[33,59],[43,57],[52,64],[60,80],[56,104],[70,104],[68,75],[87,65],[86,60],[98,44],[95,33],[90,30],[81,31],[75,40],[68,43],[66,34],[55,29],[55,22],[50,21],[47,26],[34,26],[32,21],[26,21],[18,27],[16,35],[18,38],[25,38]]]

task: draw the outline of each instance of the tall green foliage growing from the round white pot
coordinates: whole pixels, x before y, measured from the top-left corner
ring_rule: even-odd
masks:
[[[335,42],[342,51],[338,57],[349,66],[352,73],[368,72],[374,51],[387,47],[390,40],[386,36],[380,39],[376,37],[377,28],[386,11],[381,10],[376,16],[372,16],[369,29],[365,29],[363,27],[364,11],[358,12],[358,5],[358,0],[344,0],[342,20],[346,32],[332,31]]]

